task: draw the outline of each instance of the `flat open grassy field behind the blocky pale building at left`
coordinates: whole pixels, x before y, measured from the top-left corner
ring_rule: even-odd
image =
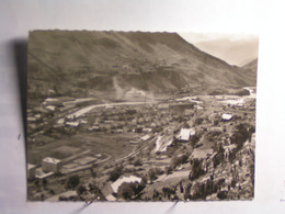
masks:
[[[132,153],[135,145],[129,142],[140,136],[135,133],[106,134],[106,133],[78,133],[70,137],[64,136],[61,139],[52,139],[43,146],[35,146],[27,150],[27,161],[36,166],[41,166],[42,159],[45,157],[54,157],[58,159],[68,159],[76,154],[92,156],[105,154],[111,156],[113,160],[124,157]],[[88,153],[84,153],[87,151]],[[77,157],[80,157],[77,155]],[[70,158],[75,159],[75,158]]]

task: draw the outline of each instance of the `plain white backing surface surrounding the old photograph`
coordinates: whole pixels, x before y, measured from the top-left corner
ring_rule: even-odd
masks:
[[[2,0],[0,2],[0,212],[284,213],[284,3],[278,0]],[[26,203],[23,124],[13,41],[29,31],[123,30],[260,35],[255,198],[252,202]],[[19,134],[22,137],[19,139]]]

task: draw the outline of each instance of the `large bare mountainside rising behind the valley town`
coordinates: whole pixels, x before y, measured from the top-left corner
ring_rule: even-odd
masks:
[[[29,98],[153,94],[255,86],[176,33],[33,31],[29,40]]]

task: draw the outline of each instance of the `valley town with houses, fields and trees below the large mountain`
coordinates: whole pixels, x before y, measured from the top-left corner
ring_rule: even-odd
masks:
[[[31,201],[250,200],[255,88],[27,110]]]

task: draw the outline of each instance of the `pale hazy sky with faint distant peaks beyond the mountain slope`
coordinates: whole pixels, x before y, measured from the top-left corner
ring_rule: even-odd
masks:
[[[216,56],[230,65],[243,66],[258,58],[259,38],[256,35],[208,33],[180,33],[180,35],[201,50]]]

